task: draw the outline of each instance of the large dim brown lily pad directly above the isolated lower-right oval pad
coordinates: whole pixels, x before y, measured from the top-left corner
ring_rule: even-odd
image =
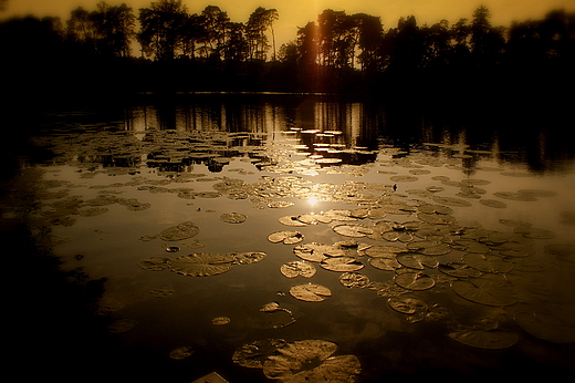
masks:
[[[494,275],[456,280],[451,288],[458,296],[487,306],[511,306],[518,300],[511,284]]]

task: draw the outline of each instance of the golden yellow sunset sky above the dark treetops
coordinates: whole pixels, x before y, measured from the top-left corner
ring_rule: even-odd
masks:
[[[63,20],[70,11],[83,7],[95,9],[100,0],[7,0],[3,19],[10,15],[32,13],[39,17],[58,15]],[[151,0],[108,0],[109,4],[125,2],[137,14],[139,8],[149,7]],[[381,18],[384,29],[397,27],[400,17],[414,14],[418,24],[433,24],[446,19],[450,24],[461,18],[471,19],[473,10],[484,4],[492,14],[493,25],[510,25],[513,20],[543,18],[553,9],[575,11],[575,0],[182,0],[191,13],[199,13],[206,6],[218,6],[232,21],[244,22],[258,7],[275,8],[280,20],[274,24],[278,44],[294,40],[297,27],[315,21],[324,9],[364,12]]]

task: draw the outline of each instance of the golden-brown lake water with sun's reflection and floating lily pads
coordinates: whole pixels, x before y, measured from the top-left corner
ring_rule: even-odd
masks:
[[[32,138],[50,155],[21,161],[34,203],[3,218],[25,210],[62,270],[105,280],[124,379],[573,373],[573,145],[452,112],[286,94],[52,111]]]

